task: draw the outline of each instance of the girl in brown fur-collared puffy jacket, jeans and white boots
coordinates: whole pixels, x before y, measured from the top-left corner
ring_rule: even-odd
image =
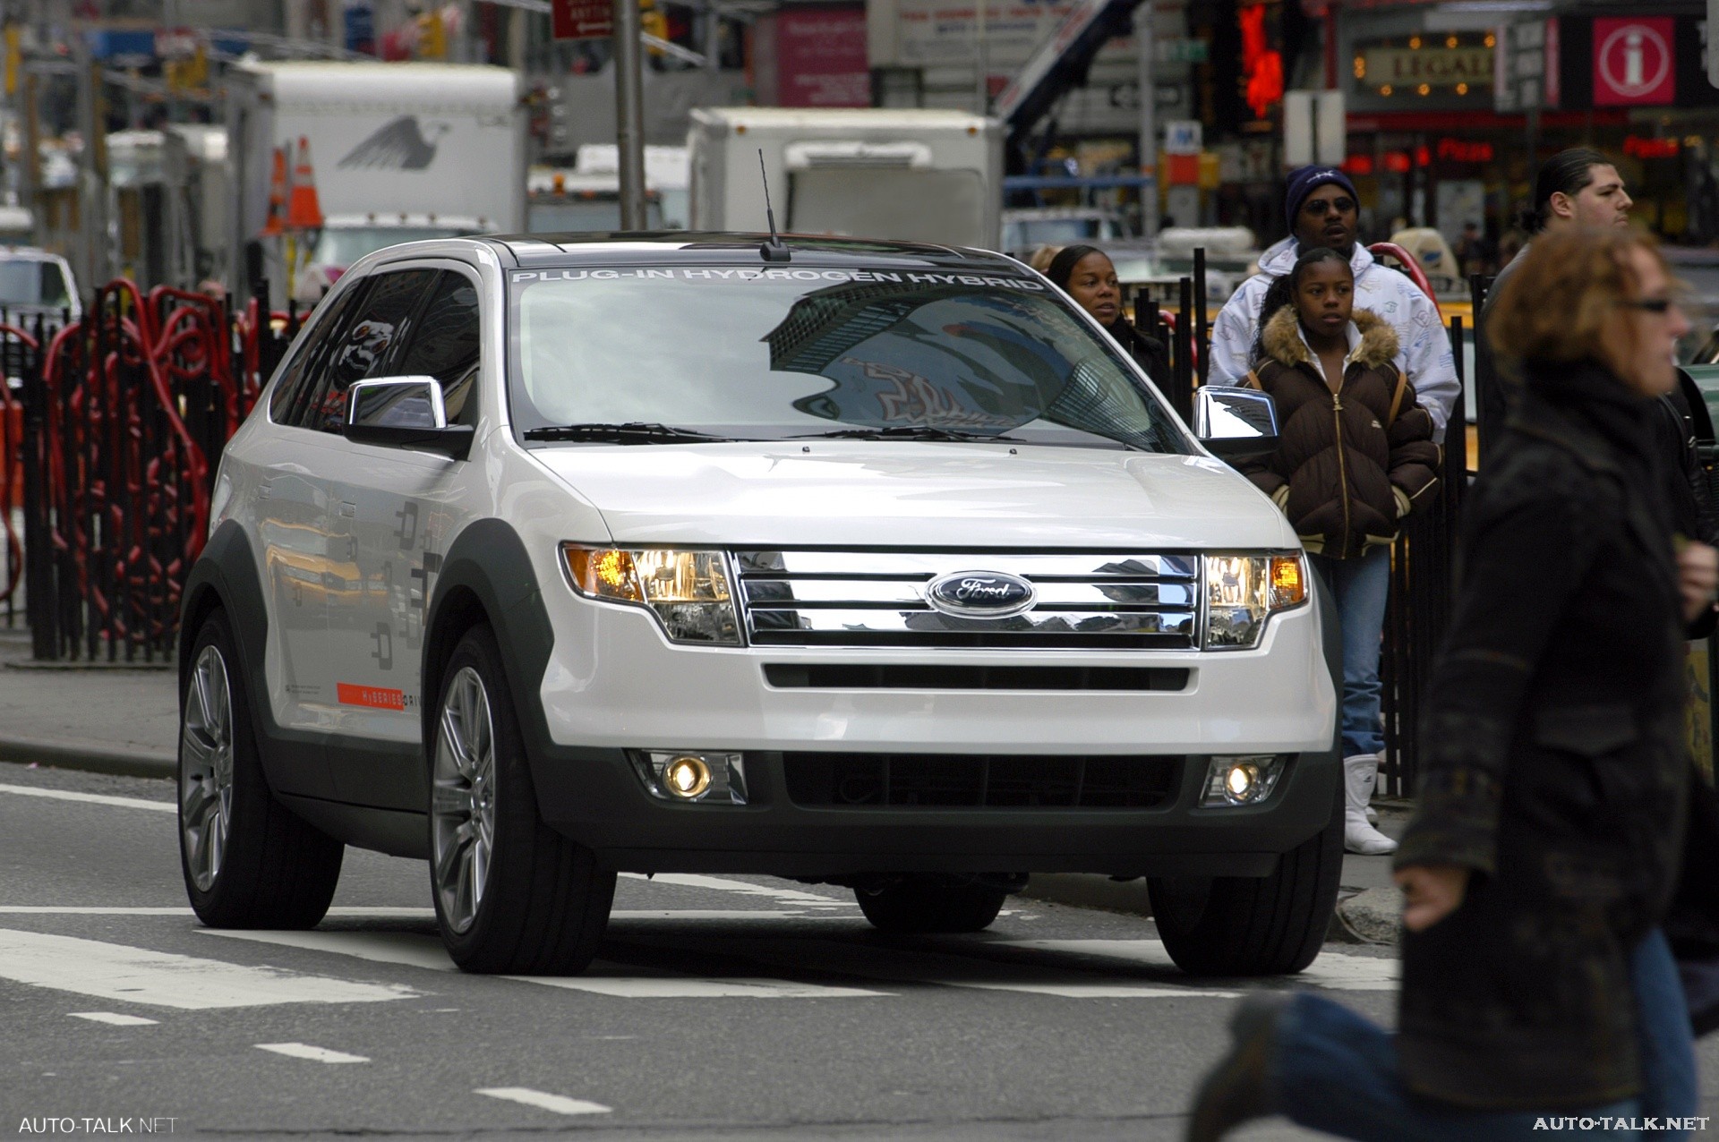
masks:
[[[1243,472],[1289,517],[1343,625],[1344,845],[1387,853],[1367,819],[1379,776],[1379,642],[1398,522],[1437,488],[1432,416],[1415,400],[1396,330],[1355,309],[1355,275],[1310,249],[1260,309],[1248,383],[1277,402],[1282,443]]]

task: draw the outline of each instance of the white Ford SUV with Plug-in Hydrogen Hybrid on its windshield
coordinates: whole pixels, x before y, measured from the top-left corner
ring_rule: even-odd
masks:
[[[1294,532],[1043,278],[976,251],[483,237],[340,278],[232,438],[182,610],[211,926],[430,866],[452,958],[576,972],[617,871],[978,931],[1147,876],[1195,972],[1305,967],[1341,869]],[[1263,416],[1263,421],[1260,419]]]

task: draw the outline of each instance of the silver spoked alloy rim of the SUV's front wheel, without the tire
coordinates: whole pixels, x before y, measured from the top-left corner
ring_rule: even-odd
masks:
[[[464,932],[478,919],[495,850],[495,726],[476,670],[454,675],[437,723],[430,867],[444,922]]]

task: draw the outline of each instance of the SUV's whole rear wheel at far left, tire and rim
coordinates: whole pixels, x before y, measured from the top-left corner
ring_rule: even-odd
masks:
[[[210,927],[316,927],[346,847],[275,800],[227,615],[191,644],[179,701],[179,867]]]

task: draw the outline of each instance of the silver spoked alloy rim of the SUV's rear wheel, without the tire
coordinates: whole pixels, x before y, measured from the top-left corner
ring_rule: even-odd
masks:
[[[227,853],[232,823],[232,687],[227,659],[205,646],[191,668],[179,730],[179,828],[186,867],[198,891],[210,891]]]

